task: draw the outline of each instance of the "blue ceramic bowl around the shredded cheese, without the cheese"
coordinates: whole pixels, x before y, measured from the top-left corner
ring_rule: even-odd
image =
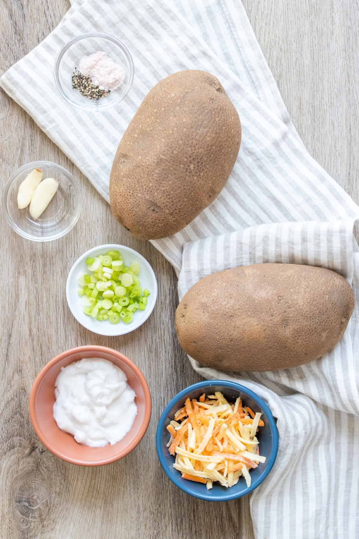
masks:
[[[174,413],[185,404],[187,397],[198,399],[202,393],[212,395],[215,391],[221,391],[229,402],[235,402],[236,398],[241,396],[245,406],[249,406],[254,412],[262,412],[264,427],[259,428],[257,438],[259,440],[259,451],[261,455],[266,457],[266,461],[264,464],[259,462],[258,467],[250,471],[251,486],[249,488],[247,487],[244,478],[241,477],[238,483],[233,487],[222,487],[214,482],[213,488],[207,490],[206,485],[203,485],[202,483],[182,479],[180,472],[173,468],[174,457],[170,455],[168,447],[166,447],[166,444],[170,439],[170,435],[166,429],[167,425],[173,419]],[[190,385],[188,388],[178,393],[178,395],[176,395],[166,406],[157,427],[156,449],[161,466],[177,487],[184,490],[187,494],[191,494],[191,496],[202,500],[224,502],[245,496],[261,485],[262,481],[264,481],[271,471],[277,457],[278,430],[272,412],[265,404],[264,400],[258,397],[256,393],[245,388],[244,385],[236,384],[235,382],[206,380],[204,382],[199,382],[198,384]]]

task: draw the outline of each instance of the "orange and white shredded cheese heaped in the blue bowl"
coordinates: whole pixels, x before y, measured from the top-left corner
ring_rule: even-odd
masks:
[[[242,476],[250,486],[250,469],[265,462],[256,438],[262,414],[243,407],[240,397],[230,404],[219,391],[200,399],[187,398],[167,427],[174,468],[183,479],[206,483],[208,490],[213,481],[230,488]]]

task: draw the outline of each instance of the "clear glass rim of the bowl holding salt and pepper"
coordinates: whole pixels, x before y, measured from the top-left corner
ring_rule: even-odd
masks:
[[[92,106],[90,104],[87,105],[86,102],[83,105],[80,104],[80,103],[76,103],[76,101],[71,99],[66,94],[66,92],[62,88],[62,85],[61,85],[61,82],[60,82],[60,79],[59,79],[60,63],[61,63],[62,57],[64,56],[65,52],[74,43],[77,43],[78,41],[81,41],[82,39],[88,39],[88,38],[91,38],[91,37],[98,37],[98,38],[102,38],[102,39],[107,39],[108,41],[111,41],[112,43],[117,45],[119,47],[119,49],[121,49],[122,52],[124,53],[124,56],[125,56],[126,60],[128,61],[128,66],[129,66],[129,80],[128,80],[127,84],[126,84],[126,87],[124,89],[123,94],[121,96],[119,96],[119,98],[117,98],[115,101],[110,101],[110,102],[106,103],[105,100],[104,100],[104,102],[102,102],[102,104],[98,103],[97,107],[94,107],[94,106]],[[61,47],[61,50],[58,53],[58,56],[56,57],[56,60],[55,60],[55,63],[54,63],[53,75],[54,75],[55,85],[56,85],[56,87],[58,89],[58,92],[60,93],[62,98],[64,98],[73,107],[76,107],[76,108],[79,108],[79,109],[82,109],[82,110],[90,110],[92,112],[96,112],[97,110],[109,109],[110,107],[113,107],[114,105],[117,105],[117,103],[120,103],[121,101],[123,101],[123,99],[129,93],[129,91],[130,91],[130,89],[132,87],[133,77],[135,75],[135,68],[133,66],[133,59],[132,59],[131,53],[128,50],[128,48],[126,47],[126,45],[121,40],[117,39],[114,36],[111,36],[111,34],[107,34],[107,33],[104,33],[104,32],[87,32],[87,33],[80,34],[79,36],[75,36],[74,38],[70,39],[67,43],[65,43],[65,45],[63,47]]]

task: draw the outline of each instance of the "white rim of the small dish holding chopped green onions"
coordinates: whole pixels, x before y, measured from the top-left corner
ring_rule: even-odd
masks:
[[[144,264],[149,269],[149,272],[150,272],[152,280],[153,280],[153,292],[151,291],[151,295],[153,294],[152,297],[154,298],[154,300],[153,300],[152,308],[148,309],[148,310],[146,309],[144,311],[145,316],[142,319],[142,321],[137,323],[137,325],[133,324],[133,323],[128,324],[128,326],[126,326],[126,331],[122,331],[121,333],[117,333],[115,335],[109,335],[108,333],[101,333],[101,331],[95,331],[94,329],[90,329],[90,328],[87,328],[86,326],[84,326],[83,323],[81,322],[81,320],[79,320],[78,317],[75,315],[75,313],[73,312],[73,310],[72,310],[72,308],[70,306],[69,295],[70,295],[70,281],[71,281],[72,275],[75,272],[76,267],[78,267],[78,265],[82,262],[82,260],[89,257],[89,255],[91,253],[93,253],[93,251],[98,251],[98,250],[102,250],[102,249],[106,249],[107,251],[109,251],[110,249],[115,248],[115,247],[118,248],[118,251],[121,251],[121,249],[129,250],[130,252],[135,253],[138,257],[140,257],[144,261]],[[89,249],[88,251],[86,251],[86,253],[83,253],[77,260],[75,260],[75,262],[72,265],[70,271],[68,272],[68,276],[67,276],[67,280],[66,280],[66,300],[67,300],[68,308],[70,309],[72,315],[79,322],[79,324],[81,324],[81,326],[83,328],[87,329],[88,331],[91,331],[92,333],[95,333],[97,335],[103,335],[105,337],[118,337],[120,335],[126,335],[127,333],[131,333],[131,331],[135,331],[135,329],[142,326],[142,324],[147,319],[149,319],[154,307],[156,306],[157,294],[158,294],[157,278],[156,278],[156,275],[154,274],[154,271],[152,269],[152,266],[151,266],[150,262],[148,260],[146,260],[145,257],[142,254],[140,254],[138,251],[135,251],[135,249],[132,249],[132,247],[128,247],[126,245],[119,245],[117,243],[107,243],[107,244],[104,244],[104,245],[98,245],[96,247],[93,247],[93,248]]]

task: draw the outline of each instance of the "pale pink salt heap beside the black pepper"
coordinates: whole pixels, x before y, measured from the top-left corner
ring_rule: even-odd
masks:
[[[90,77],[101,90],[115,90],[125,78],[123,68],[103,51],[82,57],[78,71]]]

